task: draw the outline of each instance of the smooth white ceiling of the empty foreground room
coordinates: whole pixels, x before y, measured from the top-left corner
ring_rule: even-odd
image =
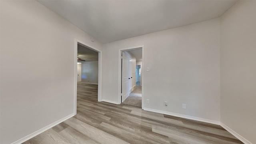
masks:
[[[38,0],[102,43],[216,18],[237,0]]]

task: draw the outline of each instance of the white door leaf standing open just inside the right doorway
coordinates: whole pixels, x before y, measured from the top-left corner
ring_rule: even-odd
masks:
[[[129,96],[129,59],[125,52],[122,52],[122,102]]]

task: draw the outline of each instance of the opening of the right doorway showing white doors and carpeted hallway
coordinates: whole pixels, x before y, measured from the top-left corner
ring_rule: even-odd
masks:
[[[121,52],[121,102],[142,107],[142,48]]]

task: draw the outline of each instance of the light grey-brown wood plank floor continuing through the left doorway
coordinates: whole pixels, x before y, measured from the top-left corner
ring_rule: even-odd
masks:
[[[77,115],[24,144],[242,144],[218,125],[97,102],[97,89],[78,83]]]

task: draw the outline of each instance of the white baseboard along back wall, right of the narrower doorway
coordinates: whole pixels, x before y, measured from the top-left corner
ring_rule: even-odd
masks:
[[[220,125],[220,122],[218,122],[216,120],[208,120],[208,119],[205,119],[205,118],[198,118],[198,117],[188,116],[188,115],[184,115],[184,114],[176,114],[176,113],[173,113],[173,112],[166,112],[166,111],[155,110],[155,109],[151,109],[151,108],[144,108],[144,110],[147,110],[147,111],[150,111],[150,112],[157,112],[157,113],[160,113],[160,114],[167,114],[167,115],[170,115],[170,116],[177,116],[177,117],[180,117],[180,118],[187,118],[187,119],[190,119],[190,120],[197,120],[197,121],[200,121],[200,122],[207,122],[207,123],[210,123],[210,124]]]

